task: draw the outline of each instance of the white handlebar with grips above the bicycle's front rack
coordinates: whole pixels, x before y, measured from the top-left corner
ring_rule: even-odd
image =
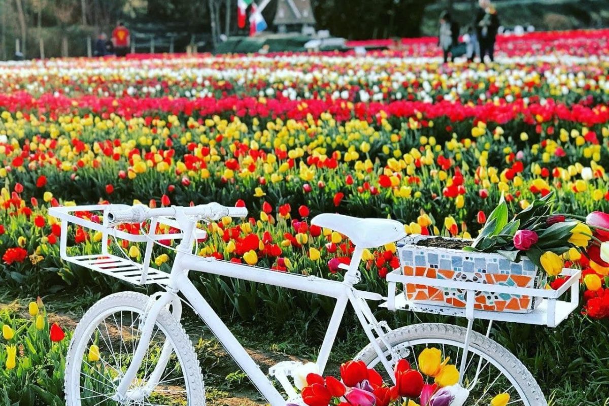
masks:
[[[180,211],[185,215],[195,215],[214,221],[227,216],[239,217],[241,219],[247,216],[247,209],[244,207],[227,207],[218,203],[192,207],[172,206],[158,209],[150,209],[143,205],[137,205],[124,210],[108,211],[108,222],[113,225],[119,223],[142,223],[152,217],[175,217]]]

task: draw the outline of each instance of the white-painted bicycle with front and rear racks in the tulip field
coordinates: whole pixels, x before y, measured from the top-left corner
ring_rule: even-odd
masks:
[[[103,222],[91,220],[94,212],[99,212],[99,219],[103,219]],[[396,284],[417,282],[413,279],[414,276],[402,275],[400,270],[393,271],[387,277],[390,287],[387,297],[354,288],[360,280],[358,267],[364,248],[379,247],[403,239],[404,229],[400,222],[357,219],[339,214],[315,217],[313,224],[342,233],[355,246],[350,265],[341,265],[346,271],[343,281],[331,281],[219,261],[214,257],[192,253],[196,240],[205,236],[205,231],[197,228],[198,222],[216,221],[224,216],[243,218],[247,215],[244,208],[228,208],[217,203],[154,209],[144,206],[95,205],[52,208],[50,213],[62,219],[60,250],[63,260],[133,284],[155,283],[164,290],[152,296],[136,292],[114,293],[100,299],[85,313],[74,331],[66,362],[65,392],[69,406],[205,404],[199,361],[192,340],[180,324],[182,302],[191,306],[202,318],[270,405],[283,406],[287,401],[299,402],[297,391],[288,377],[300,363],[280,362],[270,368],[267,376],[195,289],[189,280],[192,271],[336,298],[336,307],[317,358],[322,373],[347,304],[351,304],[370,340],[370,344],[356,355],[356,359],[363,360],[369,367],[376,366],[379,371],[387,371],[385,377],[393,379],[393,366],[398,360],[408,359],[412,365],[416,365],[417,354],[422,349],[427,346],[442,348],[443,354],[451,357],[451,362],[460,367],[460,383],[470,390],[465,404],[471,406],[488,405],[490,399],[498,393],[509,393],[510,404],[546,406],[539,385],[523,363],[488,337],[490,324],[493,320],[503,320],[554,326],[577,306],[576,282],[579,271],[569,273],[569,270],[565,270],[571,278],[560,291],[527,290],[527,294],[547,301],[547,306],[540,306],[531,315],[506,316],[507,313],[474,310],[468,301],[465,309],[453,309],[448,313],[468,318],[467,328],[425,323],[392,330],[385,321],[376,320],[367,301],[385,301],[384,306],[392,310],[439,312],[433,306],[417,306],[404,295],[395,294]],[[127,233],[119,227],[124,223],[146,223],[147,231],[143,226],[139,234]],[[74,253],[74,250],[68,247],[71,235],[68,234],[68,229],[74,226],[102,233],[104,243],[100,244],[99,254],[69,253]],[[179,231],[173,234],[158,233],[158,229],[166,226]],[[111,237],[146,243],[143,263],[133,262],[127,255],[121,255],[122,249],[109,251],[108,243],[105,242]],[[167,239],[181,240],[175,248],[171,273],[150,266],[153,245]],[[438,281],[442,286],[441,283]],[[443,283],[464,289],[468,294],[480,286],[461,281]],[[490,292],[500,288],[505,287],[488,286]],[[571,302],[558,301],[558,296],[567,289],[571,289]],[[445,310],[442,312],[446,314]],[[473,331],[474,318],[490,320],[485,335]]]

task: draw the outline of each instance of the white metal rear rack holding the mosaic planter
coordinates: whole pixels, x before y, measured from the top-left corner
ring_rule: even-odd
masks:
[[[510,321],[516,323],[538,324],[541,326],[556,327],[565,320],[571,312],[579,307],[579,279],[582,271],[571,268],[564,268],[561,276],[568,279],[560,289],[533,289],[523,287],[512,287],[505,285],[485,284],[484,292],[490,293],[509,293],[516,295],[527,295],[540,298],[541,303],[536,309],[529,313],[510,313],[490,310],[477,310],[474,308],[475,292],[479,292],[481,284],[476,282],[452,281],[448,279],[425,278],[423,276],[402,275],[400,268],[393,270],[387,275],[389,282],[389,294],[387,302],[381,307],[395,310],[412,310],[414,312],[434,313],[445,316],[465,317],[468,320],[476,318],[493,321]],[[434,304],[414,303],[406,298],[404,292],[396,292],[397,284],[417,284],[428,285],[437,288],[453,288],[466,291],[465,308],[451,306],[437,306]],[[569,301],[559,300],[567,290],[571,291]]]

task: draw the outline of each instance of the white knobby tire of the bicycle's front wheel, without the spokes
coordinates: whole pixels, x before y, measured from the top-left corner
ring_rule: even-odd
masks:
[[[96,328],[96,320],[117,310],[144,312],[149,296],[137,292],[119,292],[106,296],[95,303],[83,315],[70,341],[68,355],[66,356],[65,393],[68,406],[80,406],[80,367],[86,345]],[[184,371],[187,381],[188,405],[205,405],[205,385],[199,360],[195,354],[192,342],[181,324],[169,313],[162,309],[157,318],[157,326],[171,340],[180,368]],[[84,340],[84,343],[82,342]]]

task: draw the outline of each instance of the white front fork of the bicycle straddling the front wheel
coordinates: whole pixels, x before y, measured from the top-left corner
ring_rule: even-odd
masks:
[[[167,362],[169,362],[169,358],[174,351],[168,337],[165,338],[157,366],[155,366],[152,373],[150,373],[146,385],[136,390],[128,390],[129,385],[133,382],[133,379],[135,379],[139,367],[144,361],[146,351],[150,345],[154,326],[157,323],[158,315],[161,310],[163,310],[163,308],[169,304],[172,305],[172,315],[177,318],[177,320],[180,320],[180,298],[174,292],[168,291],[150,296],[149,303],[146,306],[146,310],[144,311],[140,321],[140,325],[143,325],[143,327],[140,329],[141,334],[138,346],[135,350],[135,354],[133,354],[131,364],[128,366],[127,371],[125,371],[125,374],[122,376],[121,381],[116,388],[116,394],[114,394],[112,397],[113,401],[125,402],[129,400],[141,399],[149,396],[152,390],[157,387],[158,381],[161,379],[161,374],[165,370]]]

